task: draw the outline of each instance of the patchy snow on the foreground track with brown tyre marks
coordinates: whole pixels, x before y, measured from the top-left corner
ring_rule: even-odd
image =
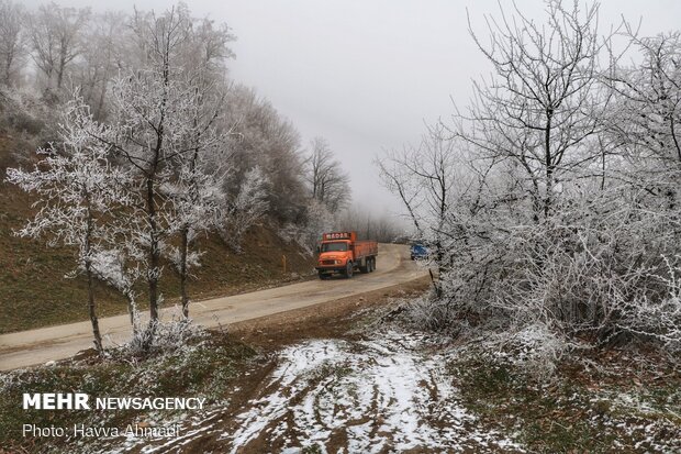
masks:
[[[478,427],[457,402],[445,359],[427,356],[415,336],[388,332],[370,341],[309,341],[286,348],[265,392],[236,416],[220,440],[232,452],[258,438],[295,452],[522,451]],[[338,446],[336,446],[338,447]],[[334,450],[335,451],[335,450]]]

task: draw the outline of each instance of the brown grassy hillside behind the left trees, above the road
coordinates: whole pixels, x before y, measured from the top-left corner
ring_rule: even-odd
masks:
[[[65,278],[74,268],[74,251],[47,247],[44,242],[12,234],[31,217],[33,200],[4,182],[4,170],[16,165],[16,152],[26,156],[31,146],[0,133],[0,333],[87,320],[85,279]],[[190,284],[194,300],[298,279],[309,276],[313,266],[311,257],[284,244],[267,223],[247,233],[242,254],[235,254],[217,235],[201,239],[199,247],[205,255],[196,272],[197,279]],[[287,257],[286,274],[282,255]],[[177,300],[179,280],[168,267],[164,269],[161,289],[166,306]],[[98,286],[97,298],[100,315],[125,313],[123,299],[107,286]],[[144,296],[139,302],[145,302]]]

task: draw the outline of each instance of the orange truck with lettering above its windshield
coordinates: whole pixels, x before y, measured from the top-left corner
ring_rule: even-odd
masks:
[[[320,279],[328,279],[333,274],[350,278],[355,269],[373,272],[377,256],[376,241],[357,241],[356,232],[330,232],[322,235],[315,268]]]

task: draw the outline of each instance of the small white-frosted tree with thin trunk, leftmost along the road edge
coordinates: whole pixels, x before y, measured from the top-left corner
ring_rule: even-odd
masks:
[[[105,273],[96,257],[110,242],[107,219],[126,204],[127,176],[109,160],[110,147],[96,140],[102,126],[92,120],[87,106],[69,103],[60,130],[60,142],[38,150],[40,163],[33,170],[8,169],[8,180],[35,193],[38,209],[34,219],[18,234],[46,236],[48,244],[77,248],[75,274],[82,272],[88,283],[88,311],[94,347],[102,351],[94,299],[94,278]]]

